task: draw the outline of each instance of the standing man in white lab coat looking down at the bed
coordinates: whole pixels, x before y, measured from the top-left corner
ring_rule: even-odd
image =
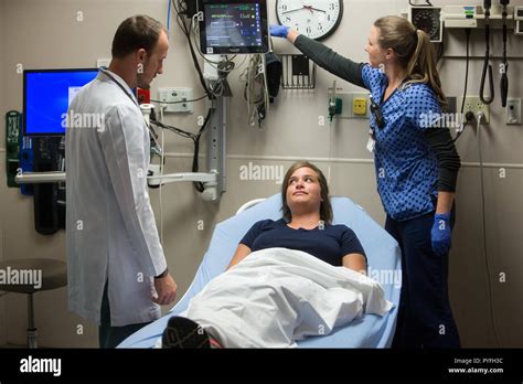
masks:
[[[147,190],[149,131],[131,90],[150,87],[168,50],[160,22],[126,19],[109,67],[67,113],[86,117],[82,127],[70,122],[65,137],[70,309],[99,324],[100,348],[158,319],[177,294]]]

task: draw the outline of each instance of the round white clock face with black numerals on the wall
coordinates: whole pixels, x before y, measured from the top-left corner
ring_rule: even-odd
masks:
[[[278,22],[310,39],[334,32],[342,14],[343,0],[276,0]]]

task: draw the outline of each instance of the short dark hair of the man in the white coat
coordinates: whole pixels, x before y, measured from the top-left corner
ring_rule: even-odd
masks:
[[[124,20],[113,39],[113,57],[124,58],[140,49],[150,53],[157,45],[162,30],[166,31],[158,20],[146,14],[137,14]]]

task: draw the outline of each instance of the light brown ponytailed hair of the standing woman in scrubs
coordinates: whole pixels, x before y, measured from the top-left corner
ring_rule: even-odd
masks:
[[[406,70],[405,84],[428,84],[441,108],[445,108],[447,98],[441,89],[436,53],[428,34],[416,30],[407,19],[395,15],[377,19],[374,26],[380,30],[380,46],[394,50],[399,64]]]

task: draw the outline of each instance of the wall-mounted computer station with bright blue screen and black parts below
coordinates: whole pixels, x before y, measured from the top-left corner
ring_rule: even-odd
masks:
[[[65,171],[64,136],[67,118],[73,116],[67,116],[67,110],[79,88],[97,74],[96,68],[23,72],[23,142],[26,139],[32,142],[32,161],[24,159],[28,153],[22,148],[24,171],[32,170],[35,175]],[[33,195],[36,232],[51,235],[64,228],[65,185],[56,182],[34,184]]]

